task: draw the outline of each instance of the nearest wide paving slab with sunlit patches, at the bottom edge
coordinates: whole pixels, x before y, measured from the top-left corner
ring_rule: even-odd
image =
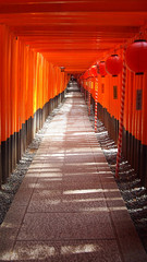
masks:
[[[17,241],[12,260],[122,262],[115,240]]]

